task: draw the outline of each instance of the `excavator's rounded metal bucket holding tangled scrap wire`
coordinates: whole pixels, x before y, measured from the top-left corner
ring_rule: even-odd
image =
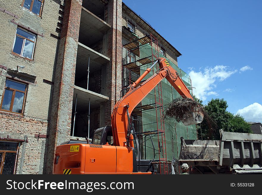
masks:
[[[201,123],[204,119],[204,114],[198,108],[191,108],[186,111],[185,118],[181,120],[183,125],[194,125]]]

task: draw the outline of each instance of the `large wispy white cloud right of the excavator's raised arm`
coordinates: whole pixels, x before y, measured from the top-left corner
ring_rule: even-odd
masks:
[[[235,72],[237,72],[237,70],[232,71],[228,66],[217,65],[213,68],[206,67],[199,72],[191,70],[189,75],[192,80],[192,86],[197,89],[197,98],[205,101],[207,96],[218,96],[219,94],[212,91],[212,89],[216,87],[217,83],[227,79]]]

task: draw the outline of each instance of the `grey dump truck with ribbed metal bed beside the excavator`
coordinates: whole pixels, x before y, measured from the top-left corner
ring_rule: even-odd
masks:
[[[262,135],[219,130],[220,140],[181,137],[178,164],[187,163],[195,174],[262,173]]]

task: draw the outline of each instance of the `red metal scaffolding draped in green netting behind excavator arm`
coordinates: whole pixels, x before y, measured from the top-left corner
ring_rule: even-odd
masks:
[[[126,89],[135,82],[143,72],[159,57],[166,58],[159,51],[157,38],[152,34],[145,37],[135,36],[125,43],[122,48],[122,87]],[[190,77],[172,63],[169,64],[178,72],[185,85],[192,92]],[[145,80],[159,70],[159,66],[152,68]],[[143,83],[145,80],[142,80]],[[140,84],[141,84],[140,83]],[[126,91],[123,90],[124,95]],[[164,121],[164,106],[179,97],[167,80],[162,80],[133,110],[132,118],[138,119],[140,126],[141,158],[155,159],[160,174],[170,174],[170,161],[178,158],[180,151],[180,137],[196,139],[196,126],[184,126],[176,121]],[[138,132],[138,129],[136,131]],[[151,139],[152,138],[152,142]],[[155,147],[154,147],[155,146]],[[157,148],[158,146],[158,148]]]

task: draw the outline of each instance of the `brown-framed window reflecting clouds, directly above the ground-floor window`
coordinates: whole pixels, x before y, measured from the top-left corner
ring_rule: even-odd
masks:
[[[26,88],[24,83],[6,80],[0,110],[22,114]]]

